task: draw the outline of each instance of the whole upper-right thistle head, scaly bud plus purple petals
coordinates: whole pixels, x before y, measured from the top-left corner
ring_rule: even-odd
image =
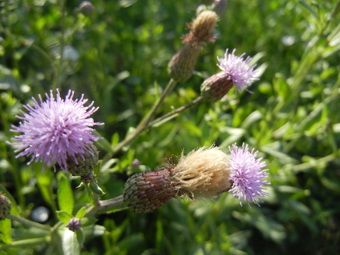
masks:
[[[236,50],[228,54],[228,49],[225,51],[224,58],[217,58],[220,62],[217,66],[222,70],[211,77],[204,80],[201,85],[201,95],[207,101],[219,101],[232,88],[236,87],[236,91],[247,90],[254,81],[258,80],[256,76],[255,66],[249,67],[248,63],[252,59],[247,57],[243,60],[241,56],[234,54]],[[252,93],[251,91],[247,90]]]

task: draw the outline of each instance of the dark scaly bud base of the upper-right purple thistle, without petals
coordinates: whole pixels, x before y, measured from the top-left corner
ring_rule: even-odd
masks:
[[[233,81],[228,79],[225,72],[218,72],[205,79],[201,85],[201,95],[205,100],[216,102],[233,87]]]

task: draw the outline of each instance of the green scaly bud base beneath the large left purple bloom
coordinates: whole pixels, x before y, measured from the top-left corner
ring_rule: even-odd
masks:
[[[73,176],[86,176],[97,166],[99,152],[94,144],[90,144],[82,155],[76,154],[75,157],[68,156],[68,171]]]

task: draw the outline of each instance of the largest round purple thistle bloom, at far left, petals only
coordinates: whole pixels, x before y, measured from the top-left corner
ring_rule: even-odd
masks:
[[[14,151],[20,156],[32,156],[28,165],[35,160],[43,163],[43,171],[45,164],[53,165],[55,171],[55,163],[58,163],[62,170],[67,171],[67,158],[72,157],[77,162],[76,155],[80,155],[83,159],[84,153],[89,152],[88,145],[92,141],[96,141],[101,137],[94,136],[91,128],[94,125],[102,125],[103,123],[94,122],[92,118],[88,118],[96,112],[99,107],[84,106],[87,99],[84,94],[80,100],[73,100],[74,91],[69,90],[65,100],[61,99],[60,92],[57,89],[56,100],[53,97],[52,90],[50,97],[46,93],[47,100],[42,101],[41,95],[39,103],[32,97],[33,107],[29,104],[23,107],[28,113],[20,112],[23,117],[16,116],[21,119],[19,126],[12,125],[11,132],[23,133],[15,136],[15,142],[8,142],[12,145],[18,145]],[[79,157],[78,157],[79,158]]]

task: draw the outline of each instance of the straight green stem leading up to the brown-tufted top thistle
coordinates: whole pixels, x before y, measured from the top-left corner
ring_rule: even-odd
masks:
[[[166,96],[172,91],[172,89],[175,87],[176,81],[173,79],[170,79],[168,85],[164,89],[162,95],[158,98],[158,100],[154,103],[153,108],[151,111],[140,121],[138,126],[136,127],[136,130],[133,134],[126,137],[123,141],[121,141],[117,146],[112,148],[111,155],[115,155],[118,153],[125,145],[127,145],[129,142],[131,142],[133,139],[135,139],[137,136],[140,135],[141,132],[143,132],[147,127],[149,127],[149,123],[153,116],[156,114],[157,109],[159,106],[163,103]]]

